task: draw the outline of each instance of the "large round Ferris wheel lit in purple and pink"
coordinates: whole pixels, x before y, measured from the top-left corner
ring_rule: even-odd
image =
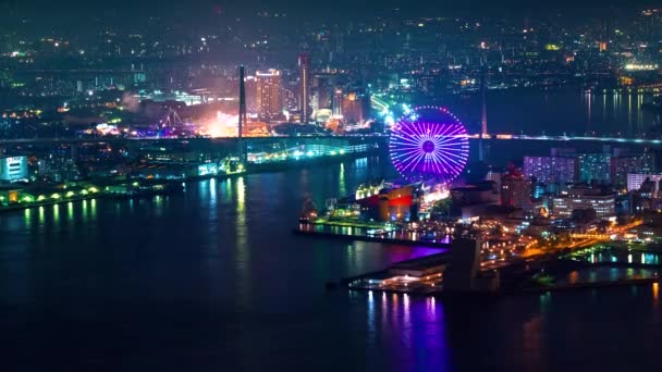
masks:
[[[404,116],[391,133],[391,162],[409,181],[453,181],[467,163],[467,131],[443,108],[422,107]]]

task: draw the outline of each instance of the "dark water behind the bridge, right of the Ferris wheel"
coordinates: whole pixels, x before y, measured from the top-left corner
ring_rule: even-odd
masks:
[[[597,135],[618,133],[634,137],[646,133],[660,123],[655,113],[642,109],[652,101],[650,94],[586,94],[578,88],[554,90],[490,90],[488,103],[488,131],[540,135]],[[453,96],[440,99],[469,128],[480,129],[481,98]]]

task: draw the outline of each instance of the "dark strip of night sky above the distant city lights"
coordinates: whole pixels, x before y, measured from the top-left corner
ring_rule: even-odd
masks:
[[[404,12],[428,14],[429,12],[453,13],[462,12],[493,12],[493,11],[545,11],[550,9],[564,9],[575,11],[596,11],[610,7],[646,7],[659,3],[651,0],[555,0],[555,1],[526,1],[526,0],[1,0],[0,3],[10,4],[11,8],[29,11],[32,14],[76,13],[99,14],[125,12],[124,15],[139,15],[137,13],[169,14],[250,14],[257,10],[286,11],[291,13],[323,16],[327,14],[347,14],[346,10],[354,10],[354,16],[369,15],[380,12],[391,12],[400,9]],[[358,13],[357,13],[358,12]]]

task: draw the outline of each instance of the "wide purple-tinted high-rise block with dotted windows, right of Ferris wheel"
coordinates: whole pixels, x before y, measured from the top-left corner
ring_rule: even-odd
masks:
[[[543,184],[566,184],[577,178],[577,159],[561,157],[524,157],[524,175]]]

